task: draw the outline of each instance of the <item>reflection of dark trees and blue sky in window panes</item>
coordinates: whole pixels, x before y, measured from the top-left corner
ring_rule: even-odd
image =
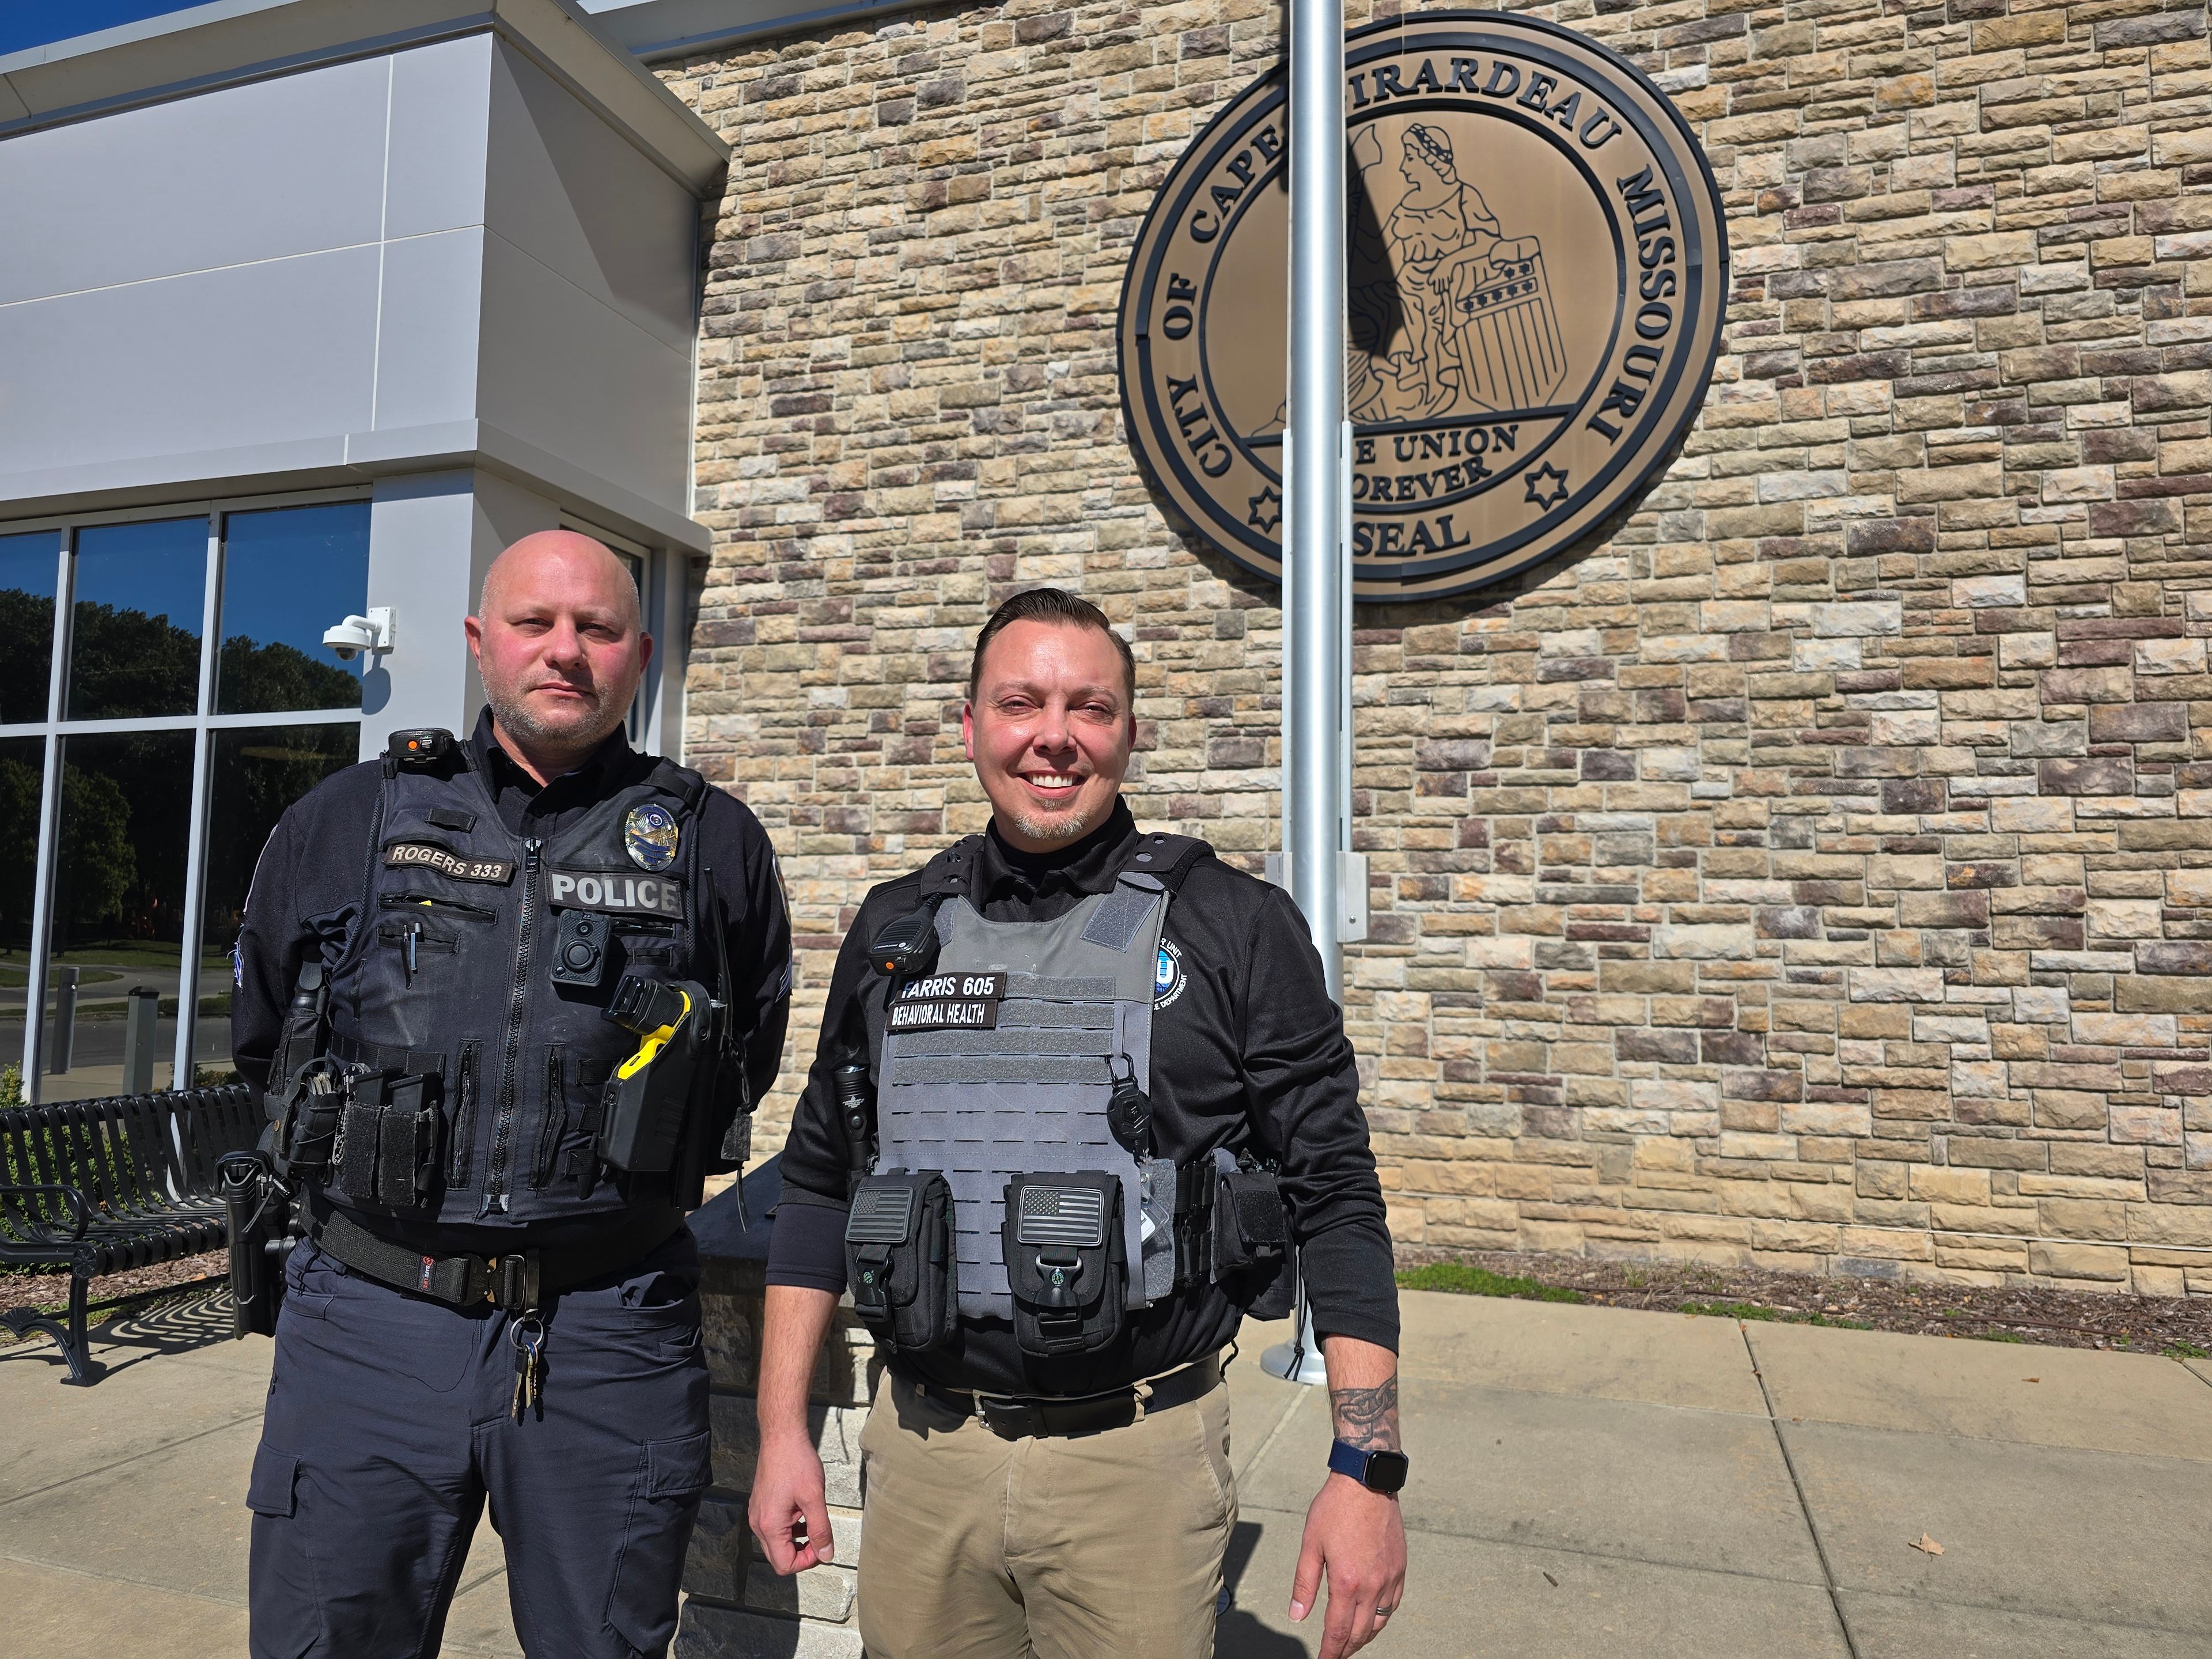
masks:
[[[0,739],[0,987],[15,991],[15,1002],[0,1009],[9,1044],[22,1031],[42,856],[53,883],[49,960],[91,964],[84,984],[148,969],[159,982],[186,942],[192,883],[204,883],[201,960],[219,958],[237,933],[276,818],[356,759],[358,723],[314,714],[361,708],[358,666],[338,666],[319,641],[323,626],[367,604],[367,504],[246,509],[219,522],[228,549],[219,613],[228,626],[212,641],[208,706],[208,641],[199,628],[208,518],[0,535],[0,726],[44,728]],[[73,549],[75,591],[55,730],[49,714],[64,549]],[[192,869],[192,728],[210,712],[268,723],[223,721],[208,732],[208,838]],[[301,717],[310,723],[285,723]],[[75,721],[113,726],[69,730]],[[131,721],[168,730],[133,730]],[[53,838],[42,847],[49,741],[60,743],[60,801]],[[199,984],[201,1020],[219,1020],[228,984]],[[201,1031],[199,1048],[221,1053],[219,1033]]]

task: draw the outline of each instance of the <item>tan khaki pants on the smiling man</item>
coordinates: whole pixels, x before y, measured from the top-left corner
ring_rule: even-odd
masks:
[[[1212,1659],[1230,1391],[1000,1440],[887,1371],[860,1431],[869,1659]]]

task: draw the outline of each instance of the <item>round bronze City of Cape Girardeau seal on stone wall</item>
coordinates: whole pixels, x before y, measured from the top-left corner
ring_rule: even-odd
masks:
[[[1495,582],[1635,507],[1721,347],[1728,232],[1688,124],[1632,64],[1495,11],[1345,46],[1352,580]],[[1261,575],[1283,564],[1285,73],[1223,108],[1121,294],[1130,442]]]

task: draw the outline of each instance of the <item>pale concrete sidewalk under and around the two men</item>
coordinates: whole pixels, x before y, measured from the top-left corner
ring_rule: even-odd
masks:
[[[0,1352],[11,1652],[246,1650],[270,1345],[226,1323],[135,1321],[95,1389],[46,1343]],[[2212,1652],[2212,1363],[1425,1294],[1405,1325],[1411,1582],[1378,1657]],[[1279,1336],[1230,1371],[1223,1659],[1318,1637],[1283,1604],[1327,1402],[1252,1363]],[[518,1652],[489,1528],[445,1652]]]

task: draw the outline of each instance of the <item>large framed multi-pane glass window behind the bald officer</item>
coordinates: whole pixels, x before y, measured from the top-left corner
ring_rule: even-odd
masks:
[[[261,845],[361,743],[361,668],[323,630],[367,608],[367,549],[365,500],[0,535],[0,1060],[24,1097],[232,1075]]]

